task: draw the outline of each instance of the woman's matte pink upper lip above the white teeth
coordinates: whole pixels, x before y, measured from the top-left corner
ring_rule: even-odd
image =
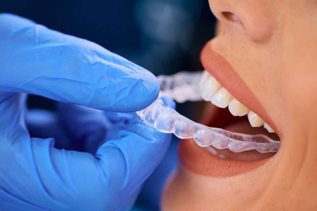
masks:
[[[209,41],[203,48],[200,55],[200,60],[203,67],[215,79],[225,87],[233,97],[242,102],[250,110],[259,115],[265,122],[268,123],[278,134],[274,122],[263,108],[262,104],[256,98],[254,93],[249,89],[248,85],[236,73],[233,67],[223,56],[216,53],[212,49],[212,41]]]

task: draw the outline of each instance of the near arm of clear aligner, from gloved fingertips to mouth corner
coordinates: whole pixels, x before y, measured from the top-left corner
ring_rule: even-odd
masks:
[[[261,153],[276,152],[280,142],[265,135],[248,135],[233,133],[220,128],[207,127],[191,121],[175,110],[162,105],[161,100],[155,100],[146,109],[137,112],[140,118],[150,126],[165,133],[174,133],[179,138],[194,138],[199,146],[214,146],[233,152],[257,150]],[[236,140],[239,138],[241,140]],[[261,139],[264,143],[257,143]]]

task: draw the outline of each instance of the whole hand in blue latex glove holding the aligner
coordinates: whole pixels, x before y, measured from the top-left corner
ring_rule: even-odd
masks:
[[[59,131],[63,143],[30,137],[23,93],[64,102],[58,130],[54,115],[27,115],[33,131]],[[170,135],[115,112],[143,109],[158,93],[151,73],[101,46],[0,14],[0,210],[131,208]],[[80,142],[86,152],[59,150],[55,142]]]

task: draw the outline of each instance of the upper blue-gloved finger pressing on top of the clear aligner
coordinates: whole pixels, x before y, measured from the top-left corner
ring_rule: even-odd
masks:
[[[153,74],[93,42],[0,14],[0,92],[134,112],[158,96]]]

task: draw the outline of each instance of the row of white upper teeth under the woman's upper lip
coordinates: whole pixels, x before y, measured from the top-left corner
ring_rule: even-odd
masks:
[[[204,71],[200,85],[200,94],[205,101],[211,101],[212,104],[226,108],[229,105],[229,111],[234,116],[244,116],[248,114],[248,119],[252,127],[264,126],[268,132],[275,132],[267,123],[253,111],[240,103],[237,99],[222,87],[219,82],[211,76],[206,70]]]

